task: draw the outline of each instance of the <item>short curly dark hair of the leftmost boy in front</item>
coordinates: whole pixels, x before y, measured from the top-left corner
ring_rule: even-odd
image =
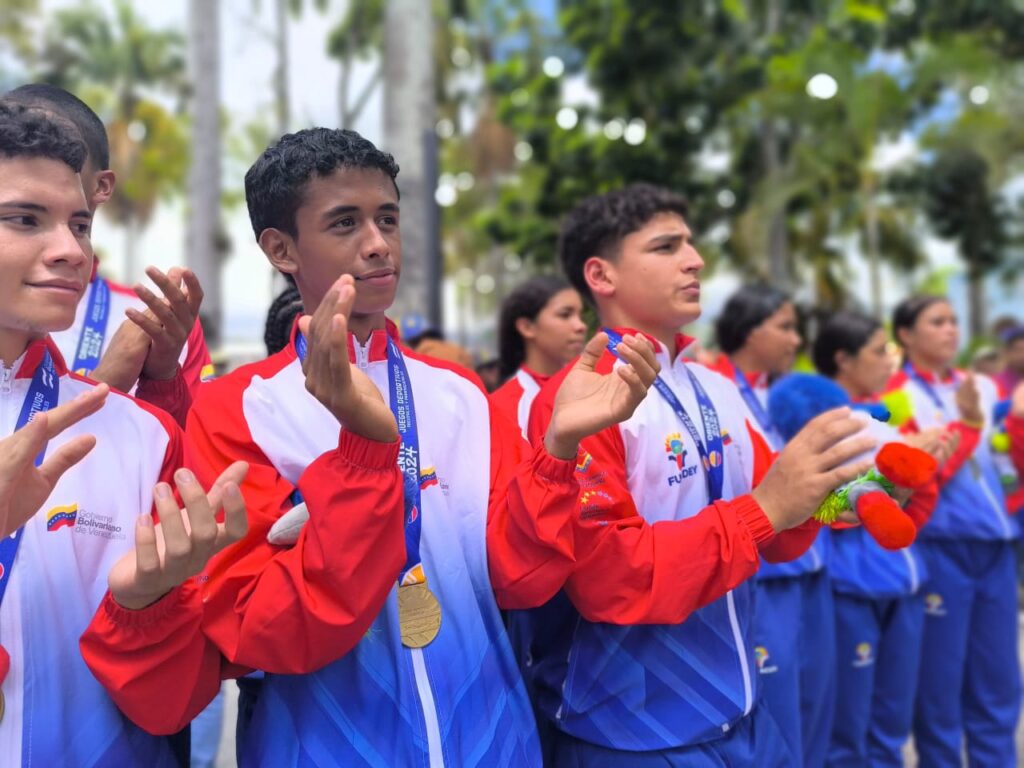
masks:
[[[56,160],[79,173],[85,144],[67,120],[0,100],[0,157]]]

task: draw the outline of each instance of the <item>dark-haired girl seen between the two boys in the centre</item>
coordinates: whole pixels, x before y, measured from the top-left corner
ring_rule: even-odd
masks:
[[[562,278],[531,278],[502,303],[498,359],[504,384],[490,399],[524,435],[537,393],[583,351],[586,337],[583,299]]]

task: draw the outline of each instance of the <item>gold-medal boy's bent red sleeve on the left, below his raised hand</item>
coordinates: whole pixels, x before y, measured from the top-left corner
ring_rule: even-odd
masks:
[[[354,647],[397,581],[406,558],[399,443],[341,430],[338,446],[299,477],[308,523],[295,546],[272,547],[267,531],[292,506],[295,486],[250,435],[247,384],[228,377],[204,385],[185,432],[186,464],[204,484],[249,462],[249,534],[207,568],[203,629],[233,664],[303,674]]]

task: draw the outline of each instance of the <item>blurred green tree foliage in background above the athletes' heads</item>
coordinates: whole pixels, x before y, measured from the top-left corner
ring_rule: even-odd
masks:
[[[423,42],[450,327],[492,315],[525,272],[554,268],[560,218],[583,196],[640,180],[690,199],[712,273],[769,279],[824,307],[881,313],[941,284],[937,238],[956,249],[980,336],[983,280],[1020,273],[1014,0],[432,2]],[[228,162],[244,166],[303,124],[288,76],[300,18],[318,19],[337,65],[315,76],[339,125],[386,93],[384,63],[401,55],[386,50],[389,0],[246,3],[275,63],[254,84],[265,116],[224,116]],[[143,7],[86,0],[48,14],[42,34],[39,0],[5,0],[0,17],[0,79],[16,61],[106,122],[121,179],[111,212],[126,240],[182,194],[191,141],[186,33],[151,26]]]

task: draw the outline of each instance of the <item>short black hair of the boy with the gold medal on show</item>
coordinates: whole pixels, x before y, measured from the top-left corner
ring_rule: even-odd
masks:
[[[339,168],[376,169],[392,183],[398,175],[394,158],[355,131],[307,128],[286,133],[264,150],[246,173],[246,203],[256,240],[269,228],[297,238],[295,212],[306,184],[313,176],[328,176]],[[394,188],[397,193],[396,183]]]

